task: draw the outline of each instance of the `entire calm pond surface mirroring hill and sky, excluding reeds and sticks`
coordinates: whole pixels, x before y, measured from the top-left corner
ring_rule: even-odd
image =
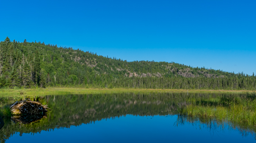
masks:
[[[191,99],[218,94],[93,94],[36,97],[51,111],[28,124],[3,118],[1,143],[255,142],[252,128],[180,116]],[[33,98],[31,98],[33,100]],[[0,98],[1,105],[21,97]],[[1,126],[0,126],[1,127]]]

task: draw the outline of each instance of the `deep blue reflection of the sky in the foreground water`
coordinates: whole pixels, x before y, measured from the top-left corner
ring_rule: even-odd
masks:
[[[185,123],[174,125],[177,116],[140,117],[127,115],[115,119],[96,121],[95,124],[71,126],[70,129],[42,131],[40,134],[14,134],[6,143],[250,143],[254,136],[243,137],[238,131],[216,129],[213,132],[206,127]],[[227,128],[227,127],[226,127]]]

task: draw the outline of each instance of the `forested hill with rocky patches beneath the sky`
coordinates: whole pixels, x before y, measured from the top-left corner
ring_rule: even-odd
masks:
[[[256,78],[243,73],[168,62],[104,57],[44,42],[0,42],[0,87],[248,89]]]

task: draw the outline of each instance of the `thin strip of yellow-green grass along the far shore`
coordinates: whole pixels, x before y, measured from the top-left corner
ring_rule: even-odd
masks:
[[[189,93],[246,93],[247,90],[185,90],[185,89],[125,89],[125,88],[35,88],[35,89],[0,89],[0,96],[42,96],[65,94],[105,94],[122,92],[189,92]]]

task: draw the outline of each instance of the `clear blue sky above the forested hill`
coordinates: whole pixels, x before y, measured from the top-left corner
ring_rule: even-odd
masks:
[[[0,41],[256,73],[255,0],[3,0]]]

